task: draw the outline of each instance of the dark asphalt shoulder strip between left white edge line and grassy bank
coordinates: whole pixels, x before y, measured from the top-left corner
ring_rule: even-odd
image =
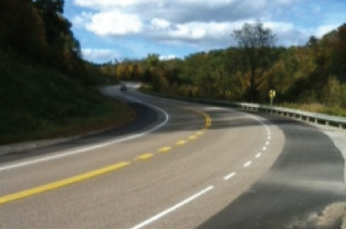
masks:
[[[0,155],[0,165],[1,163],[8,163],[11,161],[22,160],[33,156],[41,156],[52,152],[64,151],[73,147],[83,147],[95,143],[103,143],[109,140],[115,140],[116,138],[122,136],[136,134],[140,131],[143,131],[154,125],[154,123],[158,121],[158,113],[154,109],[136,102],[129,102],[128,105],[136,109],[136,119],[134,120],[134,122],[131,122],[124,127],[120,127],[118,129],[109,129],[98,134],[92,134],[90,136],[85,136],[75,140],[69,140],[64,143],[50,145],[48,147]]]

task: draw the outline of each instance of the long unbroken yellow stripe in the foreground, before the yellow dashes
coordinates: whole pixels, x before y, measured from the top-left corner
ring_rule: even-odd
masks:
[[[3,203],[8,203],[10,201],[15,201],[17,199],[22,199],[22,198],[25,198],[25,197],[28,197],[28,196],[33,196],[35,194],[39,194],[39,193],[46,192],[46,191],[49,191],[49,190],[55,190],[55,189],[57,189],[59,187],[64,187],[66,185],[71,185],[73,183],[84,181],[86,179],[93,178],[95,176],[100,176],[100,175],[106,174],[108,172],[113,172],[115,170],[121,169],[122,167],[126,167],[127,165],[130,165],[130,163],[129,162],[116,163],[114,165],[109,165],[107,167],[102,167],[102,168],[100,168],[98,170],[93,170],[91,172],[86,172],[84,174],[80,174],[80,175],[77,175],[77,176],[72,176],[71,178],[66,178],[66,179],[61,180],[61,181],[55,181],[53,183],[48,183],[46,185],[41,185],[41,186],[34,187],[34,188],[31,188],[31,189],[28,189],[28,190],[24,190],[24,191],[21,191],[21,192],[16,192],[14,194],[9,194],[7,196],[1,196],[0,197],[0,205],[3,204]]]

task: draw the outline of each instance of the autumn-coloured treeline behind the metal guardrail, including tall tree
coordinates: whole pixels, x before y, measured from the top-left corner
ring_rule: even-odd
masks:
[[[245,38],[251,35],[246,26]],[[250,25],[268,32],[261,26]],[[174,95],[268,103],[273,89],[275,102],[346,108],[346,24],[321,39],[311,37],[304,46],[239,45],[162,61],[148,55],[101,69],[118,80],[140,80],[153,91]]]

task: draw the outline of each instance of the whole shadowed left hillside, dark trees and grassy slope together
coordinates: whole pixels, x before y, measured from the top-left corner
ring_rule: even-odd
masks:
[[[95,90],[116,83],[81,57],[64,1],[0,2],[0,144],[84,134],[135,112]]]

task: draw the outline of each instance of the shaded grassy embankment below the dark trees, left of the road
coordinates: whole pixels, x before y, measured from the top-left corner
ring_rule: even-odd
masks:
[[[134,119],[125,104],[45,68],[0,59],[0,144],[86,134]]]

